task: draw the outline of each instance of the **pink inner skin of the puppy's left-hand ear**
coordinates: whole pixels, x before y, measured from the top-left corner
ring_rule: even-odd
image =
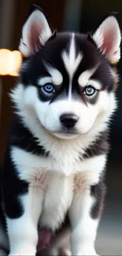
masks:
[[[43,32],[42,28],[43,24],[37,24],[37,22],[31,23],[30,33],[29,33],[29,42],[31,49],[34,51],[39,50],[41,43],[39,40],[39,36],[41,35],[41,32]]]

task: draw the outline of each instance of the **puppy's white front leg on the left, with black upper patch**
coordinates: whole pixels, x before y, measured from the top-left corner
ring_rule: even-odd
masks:
[[[43,191],[39,187],[30,186],[28,192],[20,198],[9,197],[9,199],[9,205],[5,200],[10,245],[9,254],[35,255],[38,243],[37,227],[43,206]],[[15,205],[14,202],[16,202]],[[10,211],[9,207],[13,207],[13,211]],[[14,207],[20,208],[20,217],[15,216],[17,209],[14,209]]]

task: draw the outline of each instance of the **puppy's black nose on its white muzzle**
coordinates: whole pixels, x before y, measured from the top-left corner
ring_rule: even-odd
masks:
[[[61,124],[66,128],[72,128],[78,121],[78,117],[73,113],[63,113],[60,117]]]

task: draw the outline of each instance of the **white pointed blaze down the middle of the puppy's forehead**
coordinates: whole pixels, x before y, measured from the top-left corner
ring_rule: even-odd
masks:
[[[79,62],[82,60],[83,55],[81,53],[77,54],[76,56],[76,42],[75,42],[75,35],[72,33],[69,50],[63,50],[62,52],[62,59],[65,64],[65,69],[68,72],[68,76],[70,80],[76,69],[78,68]]]

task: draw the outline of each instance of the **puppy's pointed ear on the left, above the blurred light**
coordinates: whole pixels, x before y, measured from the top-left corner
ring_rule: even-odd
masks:
[[[43,10],[39,6],[33,5],[29,13],[28,20],[22,29],[19,50],[24,57],[35,53],[53,35]]]

